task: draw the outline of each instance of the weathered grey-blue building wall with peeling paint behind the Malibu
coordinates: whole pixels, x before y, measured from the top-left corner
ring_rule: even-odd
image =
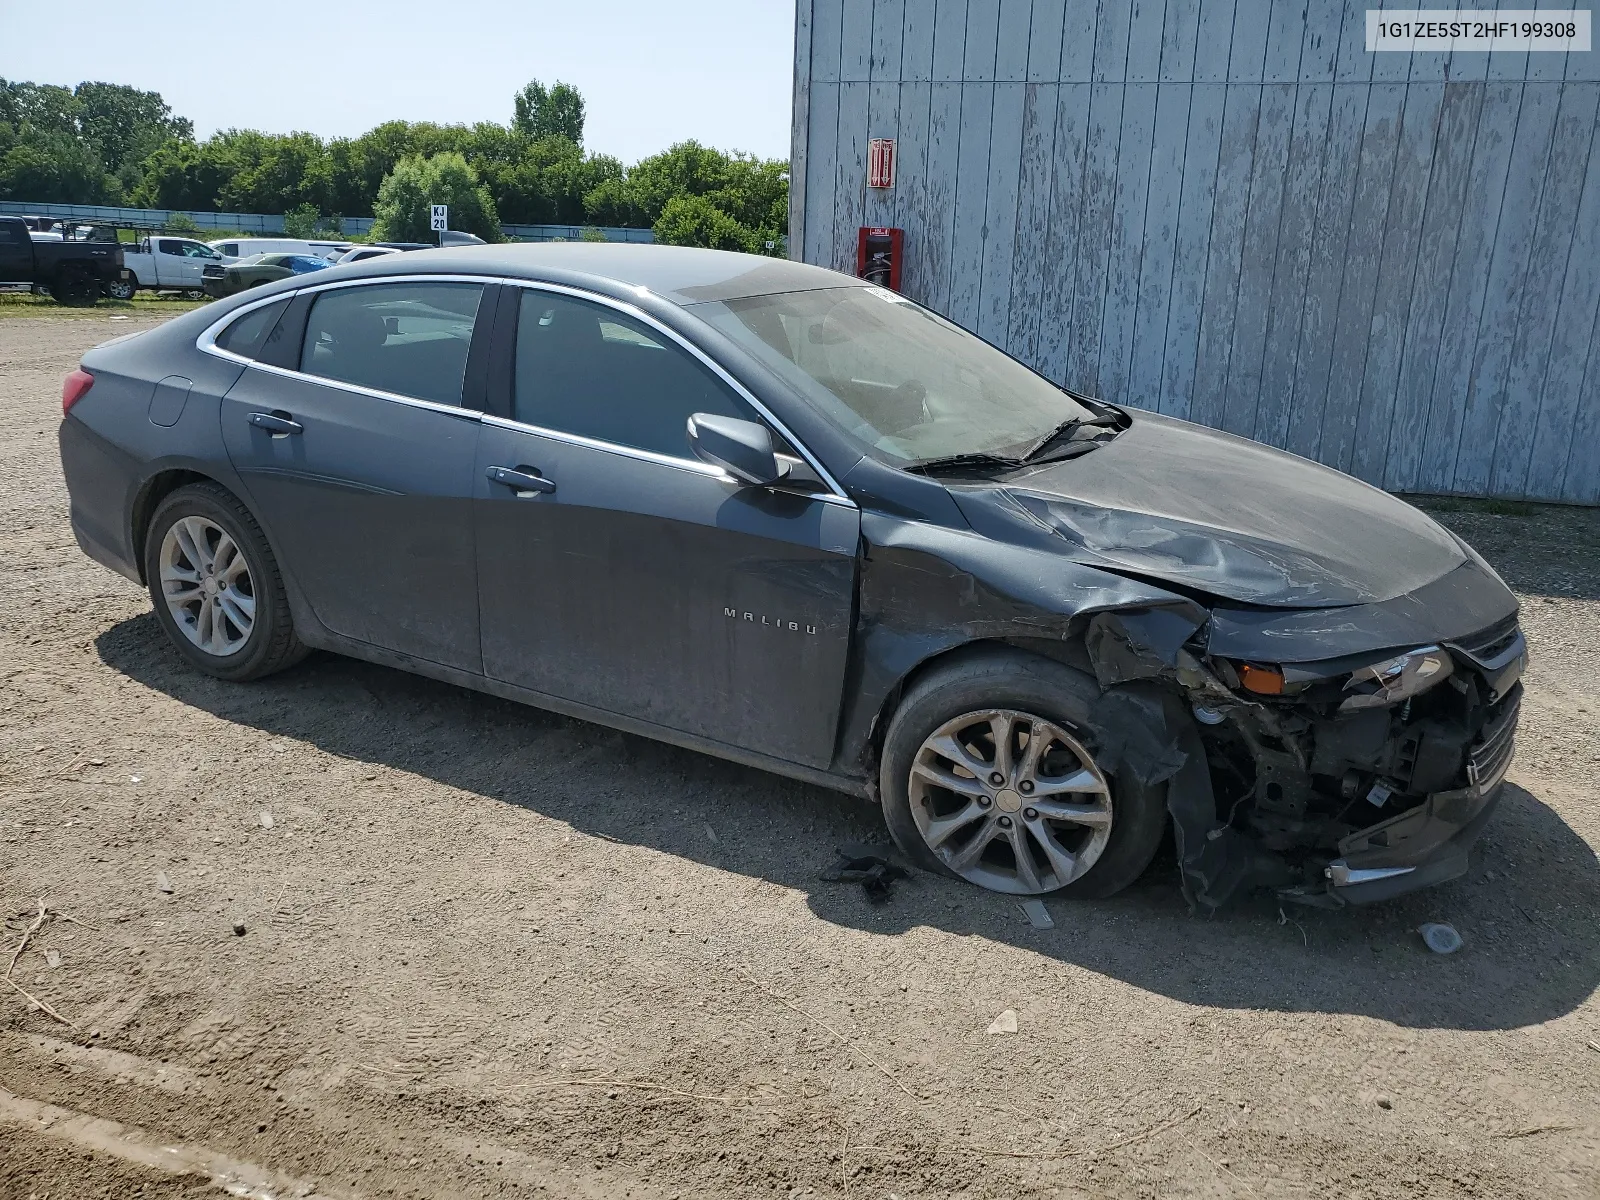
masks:
[[[1600,502],[1600,51],[1370,54],[1366,6],[798,0],[792,253],[901,226],[907,294],[1070,387]]]

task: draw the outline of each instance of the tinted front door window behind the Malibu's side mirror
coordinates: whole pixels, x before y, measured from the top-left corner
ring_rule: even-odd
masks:
[[[643,322],[571,296],[522,293],[517,421],[693,458],[694,413],[757,419],[710,368]]]

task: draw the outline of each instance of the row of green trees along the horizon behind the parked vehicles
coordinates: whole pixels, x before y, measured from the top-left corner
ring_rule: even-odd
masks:
[[[582,138],[582,96],[538,80],[514,98],[509,125],[397,120],[358,138],[224,130],[203,141],[154,91],[0,80],[0,198],[286,213],[323,229],[378,216],[397,237],[421,214],[395,205],[445,179],[466,194],[434,198],[482,237],[499,222],[594,224],[650,226],[680,245],[782,245],[787,163],[690,141],[626,166]]]

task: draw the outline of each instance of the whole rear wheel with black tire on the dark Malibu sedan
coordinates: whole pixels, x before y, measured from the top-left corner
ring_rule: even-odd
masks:
[[[144,578],[166,637],[208,675],[262,678],[307,654],[294,637],[272,547],[250,509],[216,483],[178,488],[157,506],[144,538]],[[194,590],[184,586],[190,581]]]

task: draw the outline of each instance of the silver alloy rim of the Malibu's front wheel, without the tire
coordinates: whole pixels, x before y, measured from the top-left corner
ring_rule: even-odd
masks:
[[[1110,786],[1094,757],[1029,712],[986,709],[941,725],[912,760],[909,795],[928,850],[992,891],[1064,888],[1110,840]]]

